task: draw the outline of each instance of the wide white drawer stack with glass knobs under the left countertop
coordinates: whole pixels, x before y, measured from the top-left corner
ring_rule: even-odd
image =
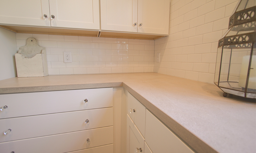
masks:
[[[0,95],[0,107],[1,153],[113,153],[112,88]]]

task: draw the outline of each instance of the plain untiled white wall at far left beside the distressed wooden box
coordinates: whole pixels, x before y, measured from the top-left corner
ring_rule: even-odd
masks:
[[[0,27],[0,80],[16,77],[14,54],[17,53],[15,33]]]

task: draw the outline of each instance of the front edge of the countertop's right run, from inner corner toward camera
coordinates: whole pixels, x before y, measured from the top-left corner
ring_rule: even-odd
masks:
[[[128,85],[123,83],[123,87],[130,92],[136,99],[140,101],[150,112],[152,112],[159,120],[161,120],[176,136],[180,137],[184,143],[190,146],[190,149],[198,153],[218,153],[215,149],[203,142],[197,136],[193,135],[186,128],[181,126],[178,122],[173,120],[170,116],[162,112],[147,99],[142,97],[139,93],[134,91]]]

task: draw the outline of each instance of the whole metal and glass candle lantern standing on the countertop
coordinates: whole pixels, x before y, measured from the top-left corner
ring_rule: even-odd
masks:
[[[227,93],[256,98],[255,0],[240,0],[219,40],[214,83]]]

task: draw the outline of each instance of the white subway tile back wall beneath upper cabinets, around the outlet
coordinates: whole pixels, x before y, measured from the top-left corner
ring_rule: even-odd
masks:
[[[46,47],[49,75],[154,70],[154,40],[16,33],[16,50],[30,37]],[[63,62],[64,51],[71,52],[72,63]]]

